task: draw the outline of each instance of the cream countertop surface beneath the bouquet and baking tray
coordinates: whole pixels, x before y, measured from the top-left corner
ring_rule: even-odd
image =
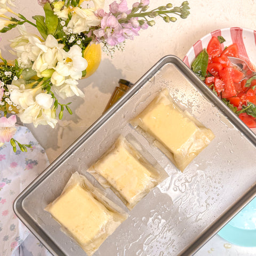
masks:
[[[106,0],[105,6],[113,1]],[[127,0],[131,6],[135,1]],[[150,8],[165,5],[167,0],[150,1]],[[182,1],[170,1],[180,5]],[[178,19],[174,23],[165,23],[156,19],[156,25],[140,31],[140,36],[127,41],[125,51],[116,52],[114,58],[102,53],[98,70],[89,78],[79,81],[79,88],[84,98],[72,98],[70,105],[73,115],[65,115],[57,127],[26,125],[38,142],[45,148],[50,162],[53,162],[79,135],[88,129],[102,114],[106,104],[118,84],[119,78],[136,82],[146,71],[165,55],[173,54],[183,59],[190,47],[197,40],[211,31],[241,27],[256,29],[255,0],[190,0],[190,15],[187,19]],[[15,11],[27,18],[43,14],[42,7],[36,0],[16,1]],[[31,29],[33,29],[31,27]],[[2,34],[0,44],[6,59],[13,59],[9,53],[9,39],[17,34],[13,29]],[[218,236],[214,236],[196,255],[255,255],[254,250],[239,246],[229,246]],[[254,254],[253,254],[254,253]]]

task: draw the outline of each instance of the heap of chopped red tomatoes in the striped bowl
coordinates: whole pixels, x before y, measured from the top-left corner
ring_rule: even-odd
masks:
[[[209,55],[209,57],[206,55],[208,62],[204,61],[204,65],[207,65],[205,84],[214,90],[219,98],[227,99],[230,105],[236,107],[238,111],[243,110],[243,113],[239,114],[239,118],[250,128],[256,128],[256,118],[249,115],[252,113],[251,111],[254,113],[254,109],[244,108],[249,104],[248,102],[256,105],[256,79],[251,84],[246,84],[247,80],[243,79],[243,72],[235,68],[228,57],[241,58],[247,62],[249,67],[253,67],[252,63],[239,56],[236,43],[221,51],[221,44],[217,37],[211,38],[207,45],[207,53]]]

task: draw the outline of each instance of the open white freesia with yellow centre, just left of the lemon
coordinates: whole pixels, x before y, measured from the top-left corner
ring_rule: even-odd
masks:
[[[81,79],[82,71],[87,68],[87,61],[82,57],[82,49],[73,45],[67,53],[65,62],[58,62],[55,71],[62,76]],[[55,79],[55,78],[54,78]],[[52,82],[53,83],[53,82]]]

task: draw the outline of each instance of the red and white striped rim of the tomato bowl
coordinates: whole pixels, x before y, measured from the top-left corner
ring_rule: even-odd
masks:
[[[199,39],[189,49],[183,59],[183,62],[188,67],[191,67],[191,63],[195,60],[197,55],[207,47],[213,36],[222,36],[226,39],[226,42],[222,44],[223,48],[236,43],[238,45],[239,55],[244,57],[244,59],[249,59],[254,65],[256,65],[256,30],[233,27],[215,30]]]

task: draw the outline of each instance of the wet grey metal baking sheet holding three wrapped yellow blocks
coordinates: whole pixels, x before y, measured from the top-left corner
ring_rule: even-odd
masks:
[[[129,120],[167,87],[215,134],[182,173]],[[191,255],[256,195],[256,136],[177,57],[161,59],[15,200],[14,211],[53,255],[86,255],[44,211],[71,173],[86,169],[123,134],[167,177],[130,212],[95,256]],[[92,180],[93,181],[93,180]],[[114,193],[107,195],[120,203]]]

